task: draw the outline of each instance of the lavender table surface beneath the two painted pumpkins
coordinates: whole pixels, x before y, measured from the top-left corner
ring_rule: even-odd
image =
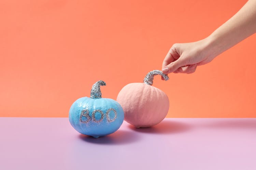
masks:
[[[0,118],[1,170],[255,170],[256,118],[166,118],[153,128],[124,122],[98,139],[68,118]]]

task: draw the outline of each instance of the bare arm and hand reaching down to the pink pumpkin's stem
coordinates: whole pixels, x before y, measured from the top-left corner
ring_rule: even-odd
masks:
[[[211,62],[217,55],[256,32],[256,0],[247,3],[210,36],[193,43],[174,44],[162,64],[164,73],[193,73],[198,65]]]

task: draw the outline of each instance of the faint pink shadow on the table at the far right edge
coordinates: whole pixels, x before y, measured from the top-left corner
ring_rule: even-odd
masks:
[[[255,118],[221,118],[216,122],[206,124],[208,128],[234,128],[234,129],[252,129],[256,130],[256,119]]]

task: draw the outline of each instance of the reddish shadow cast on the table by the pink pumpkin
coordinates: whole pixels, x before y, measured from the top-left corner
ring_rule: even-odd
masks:
[[[128,125],[128,128],[133,131],[142,133],[172,134],[189,131],[190,129],[192,129],[192,126],[186,123],[164,119],[159,124],[150,128],[135,128],[131,124]]]

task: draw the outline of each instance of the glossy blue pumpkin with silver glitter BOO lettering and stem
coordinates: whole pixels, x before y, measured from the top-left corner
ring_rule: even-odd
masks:
[[[121,105],[108,98],[101,98],[102,80],[96,82],[91,89],[91,96],[77,99],[69,110],[69,122],[73,128],[84,134],[98,138],[114,133],[124,121]]]

